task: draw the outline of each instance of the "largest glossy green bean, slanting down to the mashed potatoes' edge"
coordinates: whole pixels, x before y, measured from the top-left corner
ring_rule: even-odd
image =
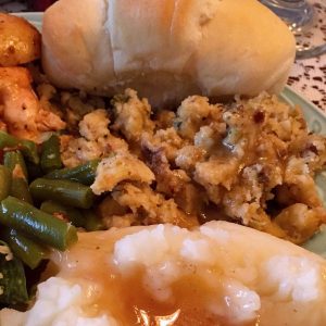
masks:
[[[11,196],[1,202],[0,223],[62,251],[77,241],[73,225]]]

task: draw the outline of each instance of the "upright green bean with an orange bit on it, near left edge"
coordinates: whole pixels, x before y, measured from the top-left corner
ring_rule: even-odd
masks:
[[[22,153],[20,151],[7,152],[3,161],[12,173],[10,195],[33,203],[27,184],[27,168]]]

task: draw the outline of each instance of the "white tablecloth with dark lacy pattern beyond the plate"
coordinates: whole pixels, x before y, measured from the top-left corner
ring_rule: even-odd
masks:
[[[326,42],[326,0],[314,0],[315,9],[321,13],[317,22],[318,37]],[[0,12],[27,11],[26,1],[0,0]],[[326,54],[319,58],[297,60],[288,80],[294,90],[303,95],[326,113]]]

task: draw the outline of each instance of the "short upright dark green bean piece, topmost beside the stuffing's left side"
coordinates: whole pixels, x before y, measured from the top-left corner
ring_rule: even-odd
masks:
[[[62,167],[60,139],[57,135],[52,135],[42,143],[40,165],[45,173]]]

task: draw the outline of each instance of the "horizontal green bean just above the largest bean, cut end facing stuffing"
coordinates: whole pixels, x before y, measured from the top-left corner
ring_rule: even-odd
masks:
[[[54,200],[78,209],[89,209],[95,199],[89,187],[70,180],[38,178],[29,185],[29,190],[36,200]]]

